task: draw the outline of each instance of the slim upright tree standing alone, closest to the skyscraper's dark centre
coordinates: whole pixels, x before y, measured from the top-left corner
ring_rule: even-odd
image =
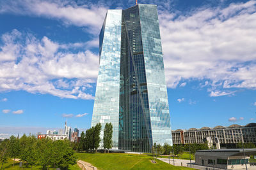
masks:
[[[112,148],[112,134],[113,134],[113,125],[111,123],[106,123],[104,128],[104,136],[103,136],[103,146],[106,152],[106,148]]]

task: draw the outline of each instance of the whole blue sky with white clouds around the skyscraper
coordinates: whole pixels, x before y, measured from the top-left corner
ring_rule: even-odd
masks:
[[[0,138],[90,127],[99,31],[134,1],[0,2]],[[256,116],[256,1],[157,4],[172,129]]]

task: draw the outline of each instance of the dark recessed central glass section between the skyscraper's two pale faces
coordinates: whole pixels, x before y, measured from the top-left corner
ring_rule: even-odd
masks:
[[[150,152],[152,136],[138,6],[123,10],[119,148]]]

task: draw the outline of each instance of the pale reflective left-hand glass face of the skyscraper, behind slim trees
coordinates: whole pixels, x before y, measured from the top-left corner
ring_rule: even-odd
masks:
[[[100,31],[100,66],[92,115],[92,126],[102,125],[100,148],[109,122],[113,124],[113,148],[118,148],[121,25],[122,10],[108,10]]]

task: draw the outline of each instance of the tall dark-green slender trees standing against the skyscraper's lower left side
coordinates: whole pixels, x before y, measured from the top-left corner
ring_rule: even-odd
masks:
[[[77,152],[89,152],[92,150],[95,150],[97,153],[97,150],[100,146],[100,131],[101,131],[101,124],[96,124],[95,127],[91,127],[90,129],[87,129],[85,134],[84,132],[81,132],[81,138],[79,140],[79,143],[74,146],[74,149],[77,150]],[[112,148],[112,134],[113,134],[113,125],[111,123],[107,123],[104,128],[104,136],[103,136],[103,146],[106,149]]]

